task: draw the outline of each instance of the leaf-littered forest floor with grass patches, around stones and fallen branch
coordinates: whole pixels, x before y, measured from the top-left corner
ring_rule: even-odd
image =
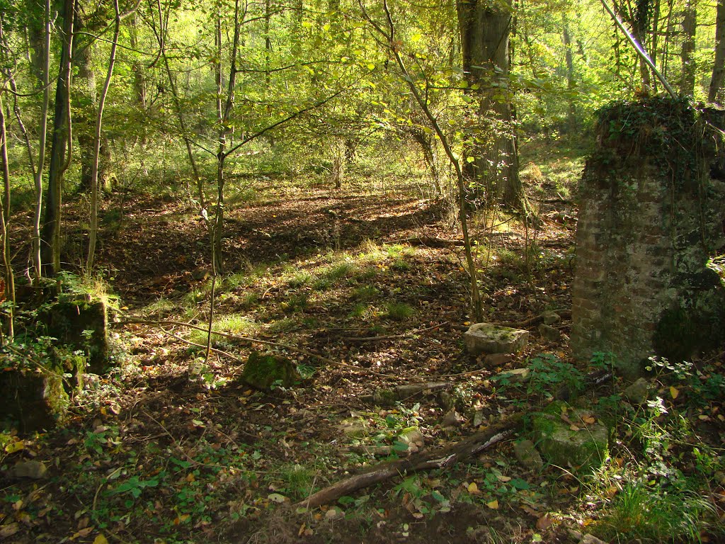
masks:
[[[0,456],[3,468],[33,458],[48,474],[2,482],[0,541],[579,543],[587,532],[627,541],[627,527],[647,523],[636,512],[612,521],[617,501],[633,489],[627,479],[647,465],[633,452],[653,448],[658,429],[672,432],[663,430],[665,416],[645,408],[630,407],[625,417],[644,419],[652,435],[613,434],[611,458],[594,476],[522,466],[513,448],[524,430],[448,469],[402,474],[310,511],[294,506],[387,458],[410,455],[399,437],[411,427],[423,435],[421,451],[444,448],[534,411],[552,388],[591,370],[568,347],[576,208],[554,181],[566,170],[571,183],[578,172],[569,157],[547,161],[543,176],[529,169],[528,178],[540,228],[502,213],[474,221],[486,320],[525,322],[546,310],[563,317],[557,334],[543,338],[531,326],[525,350],[500,358],[463,350],[468,278],[455,215],[439,202],[363,185],[335,191],[247,182],[255,197],[229,207],[226,273],[214,289],[215,329],[230,336],[215,338],[207,360],[199,347],[206,335],[183,325],[204,327],[209,318],[202,219],[183,199],[138,197],[123,214],[109,200],[99,261],[119,296],[119,367],[76,396],[59,429],[8,442],[14,446]],[[559,172],[558,161],[566,163]],[[72,228],[77,205],[66,215]],[[299,384],[257,392],[241,382],[250,351],[264,349],[250,337],[295,360]],[[535,363],[539,379],[529,384],[497,379]],[[713,354],[698,368],[723,363],[725,354]],[[423,388],[391,405],[377,401],[381,391],[421,383],[443,384],[445,394]],[[690,405],[692,387],[675,394],[665,381],[653,383],[682,426],[698,425],[697,440],[694,432],[660,433],[666,455],[661,448],[647,455],[679,456],[684,477],[723,476],[722,395]],[[610,383],[580,402],[616,403],[618,387]],[[608,409],[616,411],[612,402]],[[665,536],[718,541],[725,477],[717,477],[701,505],[705,514],[682,535]],[[657,541],[656,533],[631,530],[633,538]]]

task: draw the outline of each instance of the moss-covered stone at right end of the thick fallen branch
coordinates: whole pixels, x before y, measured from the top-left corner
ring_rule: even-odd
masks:
[[[551,403],[534,414],[537,448],[549,463],[583,473],[597,469],[607,457],[608,429],[591,421],[591,413],[566,403]],[[568,420],[568,421],[567,421]]]

